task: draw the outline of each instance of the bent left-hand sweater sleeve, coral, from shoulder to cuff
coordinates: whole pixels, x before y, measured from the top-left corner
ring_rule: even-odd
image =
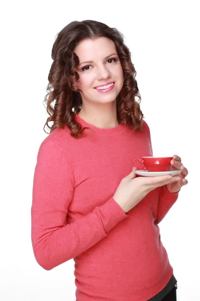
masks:
[[[111,197],[71,224],[66,223],[74,178],[58,143],[43,141],[34,170],[31,241],[35,259],[45,270],[92,247],[128,215]]]

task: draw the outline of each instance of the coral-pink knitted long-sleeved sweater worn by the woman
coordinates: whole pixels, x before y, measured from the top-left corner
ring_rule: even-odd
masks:
[[[31,240],[36,261],[50,270],[73,258],[78,301],[146,301],[173,269],[158,223],[178,193],[151,191],[127,213],[112,198],[132,160],[153,156],[150,131],[119,124],[86,129],[75,139],[67,126],[41,143],[34,171]]]

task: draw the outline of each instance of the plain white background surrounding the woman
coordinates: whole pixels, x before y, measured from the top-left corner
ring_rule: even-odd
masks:
[[[38,147],[47,136],[43,125],[48,115],[42,101],[52,45],[68,23],[86,19],[124,35],[137,72],[153,155],[176,154],[188,169],[188,184],[159,227],[178,281],[177,300],[200,300],[197,4],[57,0],[1,5],[0,300],[75,300],[73,260],[46,271],[34,258],[30,208]]]

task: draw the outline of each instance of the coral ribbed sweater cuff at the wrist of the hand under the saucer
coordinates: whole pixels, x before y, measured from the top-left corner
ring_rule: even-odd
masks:
[[[101,221],[106,233],[108,233],[120,221],[128,217],[128,215],[115,202],[113,197],[97,208],[101,214]]]

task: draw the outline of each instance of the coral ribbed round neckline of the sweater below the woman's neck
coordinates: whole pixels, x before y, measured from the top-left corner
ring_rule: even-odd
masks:
[[[123,123],[119,123],[117,126],[111,127],[111,128],[97,127],[97,126],[94,126],[94,125],[86,122],[84,119],[82,119],[81,117],[79,117],[78,112],[75,114],[74,118],[83,127],[85,127],[85,126],[91,127],[96,133],[103,134],[103,135],[120,133],[120,132],[123,132],[125,130],[125,128],[126,128],[126,126]]]

